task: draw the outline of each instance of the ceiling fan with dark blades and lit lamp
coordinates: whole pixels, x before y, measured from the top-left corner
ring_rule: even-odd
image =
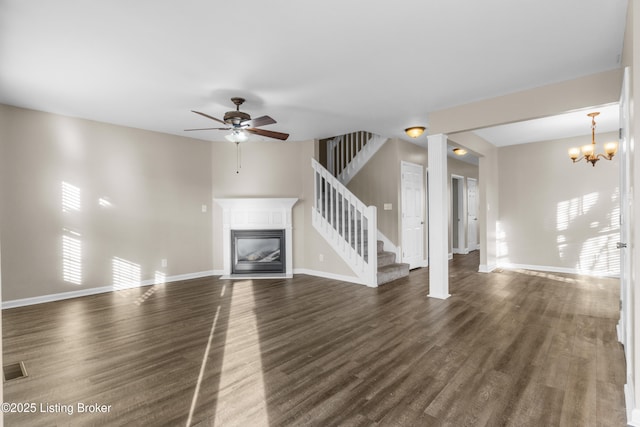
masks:
[[[227,135],[225,138],[232,142],[243,142],[248,138],[247,133],[252,133],[255,135],[266,136],[267,138],[275,138],[280,139],[282,141],[286,140],[289,137],[288,133],[283,132],[275,132],[272,130],[258,129],[260,126],[271,125],[276,123],[269,116],[261,116],[256,119],[252,119],[251,116],[243,111],[240,111],[240,106],[244,103],[244,98],[231,98],[231,102],[236,105],[235,111],[227,111],[224,114],[224,118],[222,120],[212,117],[208,114],[201,113],[200,111],[191,110],[196,114],[200,114],[203,117],[214,120],[218,123],[222,123],[223,125],[227,125],[227,127],[220,128],[199,128],[199,129],[185,129],[185,131],[194,131],[194,130],[230,130],[231,134]]]

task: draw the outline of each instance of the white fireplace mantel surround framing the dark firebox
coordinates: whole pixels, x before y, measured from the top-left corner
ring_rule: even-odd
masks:
[[[297,198],[225,198],[214,199],[222,207],[222,278],[240,278],[231,274],[231,230],[285,230],[285,274],[293,277],[292,210]],[[269,276],[271,277],[271,276]]]

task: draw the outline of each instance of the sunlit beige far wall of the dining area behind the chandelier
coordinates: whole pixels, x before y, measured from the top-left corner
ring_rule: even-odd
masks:
[[[618,274],[619,164],[573,164],[590,135],[498,150],[498,263]],[[597,134],[602,144],[617,133]]]

